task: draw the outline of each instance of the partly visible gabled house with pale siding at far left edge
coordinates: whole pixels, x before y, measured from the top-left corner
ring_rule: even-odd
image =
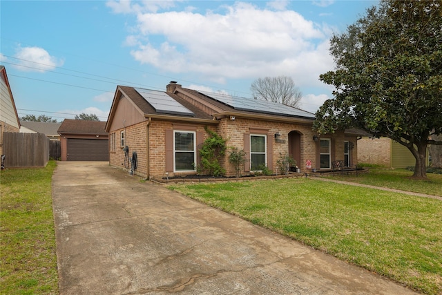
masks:
[[[3,155],[3,133],[19,132],[19,130],[19,115],[15,108],[6,68],[0,66],[0,155]]]

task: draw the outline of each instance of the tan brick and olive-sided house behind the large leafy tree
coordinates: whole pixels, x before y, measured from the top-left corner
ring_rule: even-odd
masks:
[[[427,153],[427,165],[428,161]],[[414,166],[416,159],[409,149],[389,137],[364,136],[358,140],[358,162],[387,168],[405,168]]]

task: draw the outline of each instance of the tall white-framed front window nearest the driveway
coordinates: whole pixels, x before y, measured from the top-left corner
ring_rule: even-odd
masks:
[[[174,131],[173,155],[174,171],[195,171],[196,163],[195,132]]]

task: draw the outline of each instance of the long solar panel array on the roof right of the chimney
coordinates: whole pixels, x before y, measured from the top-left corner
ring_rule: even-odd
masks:
[[[253,111],[257,113],[267,113],[273,115],[293,115],[296,117],[311,117],[315,115],[299,108],[278,104],[276,102],[266,102],[265,100],[252,99],[247,97],[239,97],[226,95],[221,93],[209,93],[207,91],[198,91],[209,96],[222,104],[227,104],[238,111]]]

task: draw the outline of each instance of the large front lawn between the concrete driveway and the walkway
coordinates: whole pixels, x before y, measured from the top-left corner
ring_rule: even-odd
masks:
[[[442,292],[440,200],[310,178],[169,188],[419,292]]]

